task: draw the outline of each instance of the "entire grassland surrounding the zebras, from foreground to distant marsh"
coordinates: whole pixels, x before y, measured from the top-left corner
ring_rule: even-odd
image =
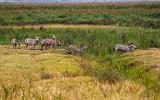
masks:
[[[158,100],[159,5],[0,4],[0,99]],[[23,44],[27,37],[52,34],[61,47],[29,50]],[[12,38],[21,41],[21,49],[12,49]],[[113,52],[117,43],[130,42],[138,50]],[[88,48],[69,55],[70,44]]]

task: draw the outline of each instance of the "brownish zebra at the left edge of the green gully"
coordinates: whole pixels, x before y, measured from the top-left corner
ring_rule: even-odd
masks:
[[[68,53],[69,54],[78,54],[78,53],[82,53],[82,51],[84,49],[86,49],[87,46],[86,45],[73,45],[71,44],[69,47],[68,47]]]

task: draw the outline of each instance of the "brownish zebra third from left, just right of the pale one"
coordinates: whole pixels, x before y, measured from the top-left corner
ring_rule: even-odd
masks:
[[[55,48],[56,46],[61,46],[61,41],[53,38],[43,39],[41,41],[41,50],[43,50],[43,46],[47,49],[48,47],[52,46],[52,48]]]

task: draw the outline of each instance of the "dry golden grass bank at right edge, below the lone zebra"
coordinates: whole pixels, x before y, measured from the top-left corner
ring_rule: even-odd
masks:
[[[145,70],[160,78],[160,49],[137,50],[127,54],[129,58],[143,62]]]

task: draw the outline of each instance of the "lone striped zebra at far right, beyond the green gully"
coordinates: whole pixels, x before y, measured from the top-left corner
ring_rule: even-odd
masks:
[[[117,52],[129,52],[135,50],[137,47],[134,45],[134,43],[130,43],[129,45],[122,45],[117,44],[114,48]]]

